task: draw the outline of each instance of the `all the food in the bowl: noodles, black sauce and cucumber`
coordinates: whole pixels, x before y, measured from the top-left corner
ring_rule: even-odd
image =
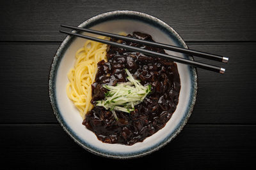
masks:
[[[154,41],[141,32],[127,36]],[[111,41],[165,53],[161,48]],[[180,92],[175,62],[92,41],[77,51],[76,58],[68,73],[67,94],[84,118],[83,125],[100,141],[134,145],[172,117]]]

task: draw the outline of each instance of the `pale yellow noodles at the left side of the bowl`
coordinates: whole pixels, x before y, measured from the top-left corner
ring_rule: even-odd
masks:
[[[106,37],[99,37],[108,39]],[[81,117],[92,110],[92,83],[97,73],[97,63],[106,60],[107,45],[95,41],[86,41],[76,52],[75,65],[68,72],[67,96],[73,101]]]

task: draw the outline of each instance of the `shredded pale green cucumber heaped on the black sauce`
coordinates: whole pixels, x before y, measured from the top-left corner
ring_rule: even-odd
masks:
[[[112,111],[116,120],[118,118],[115,111],[131,113],[131,111],[134,111],[134,106],[140,104],[151,90],[151,85],[143,86],[140,81],[132,77],[132,74],[127,69],[125,69],[125,72],[129,81],[119,83],[116,86],[103,85],[109,91],[105,94],[105,99],[97,101],[96,104],[96,106],[102,106],[106,110]]]

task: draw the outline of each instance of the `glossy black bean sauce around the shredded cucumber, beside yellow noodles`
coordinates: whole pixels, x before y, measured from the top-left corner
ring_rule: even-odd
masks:
[[[128,36],[153,41],[150,35],[141,32],[133,32]],[[111,41],[165,53],[161,48],[117,39]],[[131,113],[116,111],[118,120],[113,117],[111,111],[95,106],[86,114],[83,125],[104,143],[133,145],[162,129],[172,117],[179,102],[180,92],[177,65],[170,60],[128,52],[114,46],[108,46],[107,58],[108,62],[102,60],[98,63],[95,83],[92,84],[92,104],[95,105],[95,101],[104,99],[107,90],[102,85],[116,85],[128,81],[125,68],[135,79],[141,80],[142,85],[152,85],[151,92]]]

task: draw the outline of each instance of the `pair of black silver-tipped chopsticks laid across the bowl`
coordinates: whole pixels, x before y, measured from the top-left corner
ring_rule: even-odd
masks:
[[[225,62],[225,63],[228,62],[227,57],[223,57],[223,56],[220,56],[220,55],[214,55],[214,54],[211,54],[211,53],[198,52],[196,50],[189,50],[189,49],[186,49],[186,48],[180,48],[178,46],[166,45],[166,44],[163,44],[163,43],[145,41],[145,40],[136,39],[136,38],[129,38],[127,36],[120,36],[118,34],[111,34],[111,33],[108,33],[108,32],[95,31],[95,30],[92,30],[92,29],[84,29],[84,28],[80,28],[80,27],[73,27],[73,26],[70,26],[70,25],[61,25],[61,27],[66,27],[66,28],[69,28],[69,29],[77,30],[77,31],[90,32],[90,33],[98,34],[98,35],[101,35],[101,36],[107,36],[107,37],[110,37],[110,38],[122,39],[122,40],[125,40],[125,41],[131,41],[131,42],[134,42],[134,43],[140,43],[140,44],[144,44],[144,45],[148,45],[148,46],[155,46],[155,47],[163,48],[163,49],[166,49],[166,50],[172,50],[174,52],[186,53],[186,54],[189,54],[189,55],[195,55],[197,57],[203,57],[205,59],[211,59],[211,60],[216,60],[216,61]],[[221,74],[225,73],[225,68],[223,68],[223,67],[212,66],[210,64],[205,64],[205,63],[202,63],[202,62],[196,62],[195,60],[184,59],[184,58],[181,58],[181,57],[176,57],[176,56],[173,56],[173,55],[167,55],[167,54],[164,54],[164,53],[152,52],[152,51],[145,50],[145,49],[142,49],[142,48],[138,48],[138,47],[135,47],[135,46],[129,46],[129,45],[124,45],[124,44],[120,44],[120,43],[115,43],[113,41],[108,41],[106,39],[94,38],[94,37],[91,37],[91,36],[84,36],[82,34],[77,34],[77,33],[74,33],[74,32],[67,32],[67,31],[60,31],[60,32],[68,34],[68,35],[77,36],[77,37],[80,37],[80,38],[90,39],[92,41],[97,41],[97,42],[104,43],[104,44],[107,44],[107,45],[112,45],[112,46],[117,46],[117,47],[120,47],[120,48],[125,48],[127,50],[131,50],[132,52],[140,52],[140,53],[144,53],[144,54],[147,54],[147,55],[150,55],[150,56],[162,57],[164,59],[170,59],[170,60],[173,60],[175,62],[179,62],[179,63],[182,63],[182,64],[188,64],[190,66],[199,67],[199,68],[202,68],[202,69],[207,69],[209,71],[215,71],[215,72],[221,73]]]

